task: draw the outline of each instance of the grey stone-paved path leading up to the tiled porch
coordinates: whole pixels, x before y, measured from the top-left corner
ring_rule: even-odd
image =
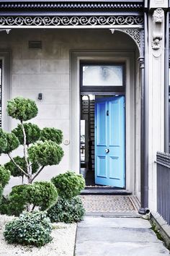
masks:
[[[75,256],[166,256],[149,221],[86,216],[78,224]]]

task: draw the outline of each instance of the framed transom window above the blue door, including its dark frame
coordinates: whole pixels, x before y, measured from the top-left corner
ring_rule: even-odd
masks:
[[[81,63],[81,91],[124,91],[125,64]]]

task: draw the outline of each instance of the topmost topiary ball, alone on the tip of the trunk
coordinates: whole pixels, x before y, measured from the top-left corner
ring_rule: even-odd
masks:
[[[20,121],[27,121],[37,116],[37,106],[35,101],[29,98],[17,97],[7,103],[9,116]]]

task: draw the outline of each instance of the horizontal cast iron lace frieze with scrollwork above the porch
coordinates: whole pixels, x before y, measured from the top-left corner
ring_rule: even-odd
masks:
[[[0,17],[0,26],[143,25],[143,17]]]

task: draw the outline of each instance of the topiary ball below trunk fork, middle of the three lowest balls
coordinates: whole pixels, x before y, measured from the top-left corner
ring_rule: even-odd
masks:
[[[35,182],[27,185],[25,199],[28,203],[39,206],[40,210],[50,208],[57,201],[58,192],[51,182]]]

